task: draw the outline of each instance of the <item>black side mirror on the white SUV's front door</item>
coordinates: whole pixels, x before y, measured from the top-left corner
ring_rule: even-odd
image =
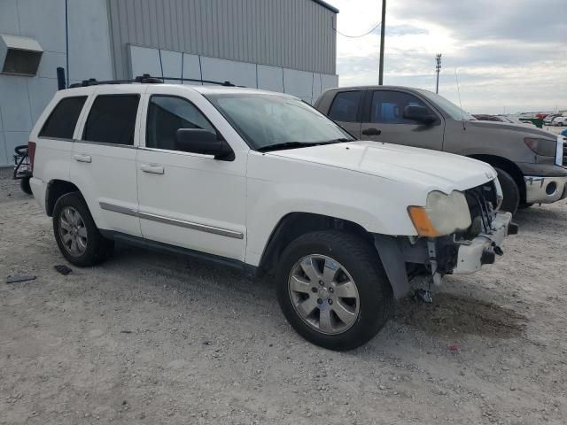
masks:
[[[215,159],[232,161],[234,152],[229,143],[202,128],[179,128],[175,132],[175,149],[183,152],[213,155]]]

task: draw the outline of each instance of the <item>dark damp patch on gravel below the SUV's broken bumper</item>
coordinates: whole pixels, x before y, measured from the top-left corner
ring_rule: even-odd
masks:
[[[431,336],[472,334],[495,338],[524,335],[527,319],[500,305],[449,293],[436,293],[432,304],[403,298],[394,321]]]

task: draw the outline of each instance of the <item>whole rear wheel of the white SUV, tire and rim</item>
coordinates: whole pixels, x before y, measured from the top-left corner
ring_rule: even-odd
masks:
[[[53,208],[53,233],[59,251],[74,266],[95,266],[113,253],[114,242],[100,234],[79,192],[58,198]]]

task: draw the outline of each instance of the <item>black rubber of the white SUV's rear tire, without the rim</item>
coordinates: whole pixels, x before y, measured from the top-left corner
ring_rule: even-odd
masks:
[[[61,215],[64,213],[66,207],[70,207],[80,214],[83,223],[82,228],[86,229],[86,247],[83,252],[76,255],[73,255],[63,242]],[[89,207],[79,192],[67,193],[58,198],[53,208],[53,233],[55,234],[59,251],[61,251],[66,260],[74,266],[95,266],[105,259],[108,259],[113,253],[114,242],[100,234],[95,221],[90,215]]]

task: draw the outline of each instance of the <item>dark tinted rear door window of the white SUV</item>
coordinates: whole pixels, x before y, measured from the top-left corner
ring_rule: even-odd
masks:
[[[97,96],[90,108],[82,139],[133,145],[139,101],[138,95]]]

